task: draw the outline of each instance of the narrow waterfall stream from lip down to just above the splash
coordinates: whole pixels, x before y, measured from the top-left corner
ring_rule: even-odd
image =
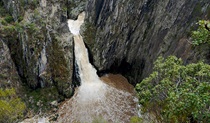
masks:
[[[68,26],[71,33],[74,35],[75,58],[79,67],[81,83],[100,82],[96,74],[96,69],[90,64],[88,52],[83,42],[82,36],[79,34],[80,26],[84,22],[85,13],[81,13],[78,19],[68,20]]]

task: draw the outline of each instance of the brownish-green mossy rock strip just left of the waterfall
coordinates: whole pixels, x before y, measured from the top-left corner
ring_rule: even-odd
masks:
[[[52,44],[48,51],[49,56],[49,71],[52,74],[52,79],[58,88],[58,92],[69,97],[72,94],[71,80],[69,78],[70,70],[68,69],[67,60],[64,56],[65,52],[61,47],[60,39],[52,34]]]

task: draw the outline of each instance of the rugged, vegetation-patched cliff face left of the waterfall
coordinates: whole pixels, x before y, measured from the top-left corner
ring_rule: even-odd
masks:
[[[72,0],[3,0],[3,3],[20,25],[15,25],[13,35],[0,36],[11,51],[22,82],[32,89],[56,88],[55,93],[70,97],[73,42],[67,19],[84,10],[84,0],[81,5]]]

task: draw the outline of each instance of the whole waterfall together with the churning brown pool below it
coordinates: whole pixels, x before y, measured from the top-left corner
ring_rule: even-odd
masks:
[[[59,123],[91,123],[94,119],[102,118],[107,122],[129,122],[131,116],[138,114],[136,98],[133,92],[120,89],[123,83],[111,86],[102,80],[111,83],[116,81],[115,75],[107,75],[100,79],[96,69],[90,64],[88,52],[79,34],[80,26],[84,22],[85,13],[81,13],[77,20],[68,20],[68,26],[74,35],[75,57],[79,67],[81,86],[74,96],[66,101],[59,109]],[[123,88],[131,87],[124,84]],[[133,89],[133,88],[132,88]]]

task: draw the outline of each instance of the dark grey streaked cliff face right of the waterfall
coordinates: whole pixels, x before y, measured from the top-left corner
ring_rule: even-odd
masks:
[[[99,70],[121,72],[135,84],[152,70],[159,55],[186,63],[206,59],[190,42],[199,19],[210,18],[209,0],[93,0],[86,20],[95,28],[87,45]],[[91,32],[90,32],[91,33]]]

